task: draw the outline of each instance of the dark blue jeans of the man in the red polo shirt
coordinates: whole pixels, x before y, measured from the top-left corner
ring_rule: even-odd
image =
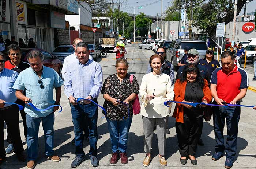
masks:
[[[216,102],[214,103],[216,104]],[[240,104],[240,103],[237,103]],[[224,152],[224,137],[223,130],[225,125],[225,119],[227,122],[227,142],[226,142],[226,158],[234,162],[234,157],[237,150],[237,133],[238,122],[240,119],[241,108],[236,107],[224,107],[224,106],[212,106],[213,113],[213,127],[216,139],[215,152]]]

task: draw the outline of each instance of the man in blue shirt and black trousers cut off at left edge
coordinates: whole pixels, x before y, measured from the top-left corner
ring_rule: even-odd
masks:
[[[6,159],[4,149],[4,121],[8,126],[9,133],[12,135],[14,144],[14,153],[20,162],[26,161],[23,155],[23,146],[19,133],[19,108],[16,105],[5,104],[5,102],[14,103],[17,98],[13,84],[18,77],[18,73],[4,68],[4,54],[0,52],[0,164]]]

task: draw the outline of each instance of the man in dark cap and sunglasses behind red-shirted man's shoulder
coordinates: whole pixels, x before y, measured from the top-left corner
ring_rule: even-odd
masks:
[[[214,59],[214,51],[212,48],[208,48],[205,52],[205,57],[198,61],[198,64],[205,66],[210,74],[216,69],[221,67],[218,60]]]

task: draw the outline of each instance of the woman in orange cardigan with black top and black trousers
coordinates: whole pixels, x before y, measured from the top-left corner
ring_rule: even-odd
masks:
[[[200,75],[196,64],[188,64],[180,79],[174,86],[174,101],[209,103],[212,99],[207,80]],[[193,107],[187,104],[176,103],[173,117],[176,118],[176,133],[179,142],[180,162],[185,165],[187,159],[193,165],[197,164],[195,158],[197,142],[203,128],[203,109],[206,105]]]

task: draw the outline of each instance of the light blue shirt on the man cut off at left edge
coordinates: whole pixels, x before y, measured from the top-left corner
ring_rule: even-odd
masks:
[[[4,68],[0,72],[0,99],[5,102],[14,103],[17,98],[15,96],[15,89],[12,89],[15,80],[18,77],[18,73]],[[4,107],[10,106],[10,104],[5,104]]]

